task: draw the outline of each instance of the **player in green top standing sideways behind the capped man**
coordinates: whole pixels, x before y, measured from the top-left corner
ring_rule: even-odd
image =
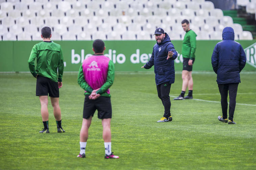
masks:
[[[192,66],[195,62],[196,52],[196,36],[197,34],[189,28],[188,20],[181,22],[182,28],[186,31],[184,40],[182,43],[182,57],[183,57],[183,69],[182,69],[182,91],[181,94],[174,98],[174,100],[193,99],[193,78],[192,78]],[[184,97],[186,89],[188,88],[188,95]]]

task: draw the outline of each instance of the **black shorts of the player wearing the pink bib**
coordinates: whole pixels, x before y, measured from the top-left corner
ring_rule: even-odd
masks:
[[[91,100],[89,95],[85,95],[83,105],[83,118],[90,118],[98,110],[98,118],[112,118],[112,107],[110,97],[100,96],[98,99]]]

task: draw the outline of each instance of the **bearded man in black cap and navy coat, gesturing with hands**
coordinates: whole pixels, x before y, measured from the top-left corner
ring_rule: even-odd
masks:
[[[150,69],[154,65],[155,81],[158,97],[164,106],[163,117],[157,122],[169,122],[171,116],[170,89],[175,80],[174,60],[178,54],[171,43],[170,37],[162,28],[155,30],[156,44],[152,56],[142,68]]]

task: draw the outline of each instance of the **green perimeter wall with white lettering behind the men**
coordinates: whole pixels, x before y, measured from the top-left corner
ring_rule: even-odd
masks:
[[[29,71],[28,58],[34,44],[40,41],[0,41],[0,72]],[[65,62],[64,71],[78,71],[83,58],[93,54],[93,41],[54,41],[61,45]],[[211,55],[216,40],[197,40],[196,61],[193,70],[212,70]],[[245,49],[245,70],[256,70],[256,40],[238,41]],[[181,40],[172,41],[178,58],[175,70],[182,70]],[[155,41],[105,41],[105,55],[110,57],[116,71],[146,71],[142,69],[150,58]],[[249,47],[249,48],[247,48]],[[152,67],[149,70],[154,70]]]

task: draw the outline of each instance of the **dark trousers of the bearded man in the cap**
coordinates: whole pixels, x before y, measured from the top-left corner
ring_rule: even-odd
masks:
[[[164,107],[163,117],[166,117],[167,119],[171,116],[171,101],[169,96],[171,85],[172,84],[170,84],[169,82],[164,82],[162,84],[156,85],[158,97],[161,99]]]

